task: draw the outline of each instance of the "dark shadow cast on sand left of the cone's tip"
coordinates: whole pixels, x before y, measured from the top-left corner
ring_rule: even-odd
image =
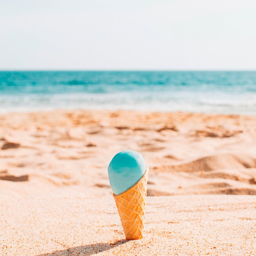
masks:
[[[125,243],[128,243],[129,240],[118,240],[115,243],[95,243],[95,244],[90,244],[90,245],[81,245],[81,246],[76,246],[76,247],[70,247],[65,250],[59,250],[59,251],[54,251],[54,252],[49,252],[46,254],[38,254],[36,256],[64,256],[64,255],[83,255],[83,256],[88,256],[88,255],[94,255],[99,252],[105,252],[108,251],[114,247],[117,247],[119,245],[123,245]]]

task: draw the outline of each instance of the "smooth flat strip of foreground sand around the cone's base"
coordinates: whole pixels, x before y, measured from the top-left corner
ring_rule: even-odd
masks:
[[[0,205],[1,255],[256,254],[256,200],[249,195],[148,197],[144,238],[132,241],[124,240],[110,196]]]

